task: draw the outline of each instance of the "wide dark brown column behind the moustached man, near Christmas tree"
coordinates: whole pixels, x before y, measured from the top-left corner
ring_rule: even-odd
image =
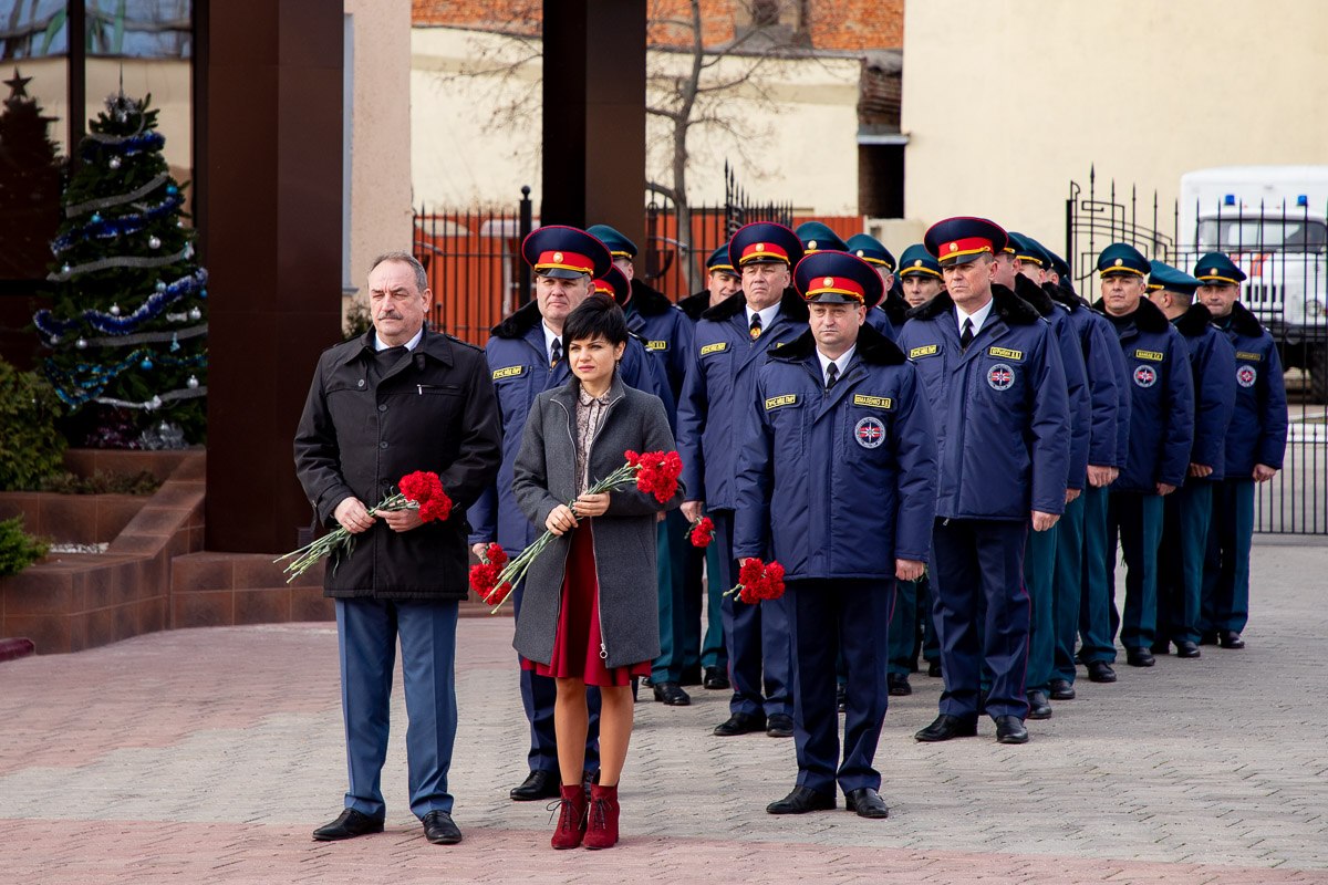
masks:
[[[340,338],[343,21],[324,0],[199,3],[208,549],[284,552],[309,524],[292,438]]]

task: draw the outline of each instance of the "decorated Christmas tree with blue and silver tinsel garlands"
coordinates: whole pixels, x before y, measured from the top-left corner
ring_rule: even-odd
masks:
[[[150,102],[112,96],[89,125],[50,243],[54,304],[33,317],[76,446],[177,447],[206,434],[207,272]]]

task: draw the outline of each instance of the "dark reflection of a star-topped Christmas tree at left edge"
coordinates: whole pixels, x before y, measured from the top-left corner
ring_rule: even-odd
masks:
[[[60,161],[28,82],[13,69],[0,109],[0,279],[36,280],[46,271],[46,247],[60,219]]]

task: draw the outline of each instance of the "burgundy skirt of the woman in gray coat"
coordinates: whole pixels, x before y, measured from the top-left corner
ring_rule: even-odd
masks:
[[[592,523],[591,519],[583,519],[580,525],[572,529],[572,548],[567,553],[552,659],[548,663],[538,663],[522,658],[521,666],[542,677],[584,679],[586,685],[631,685],[632,677],[651,674],[651,662],[608,667],[600,657],[599,581],[595,577]]]

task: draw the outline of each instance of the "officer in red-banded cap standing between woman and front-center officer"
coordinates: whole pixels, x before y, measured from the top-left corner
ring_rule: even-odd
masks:
[[[729,241],[729,257],[742,276],[742,292],[706,310],[696,324],[677,427],[684,486],[705,494],[704,500],[684,502],[683,510],[688,520],[696,520],[703,507],[709,510],[720,545],[720,585],[725,589],[737,577],[733,478],[742,422],[756,397],[757,370],[773,345],[807,328],[807,306],[789,288],[791,268],[802,257],[802,243],[793,231],[769,222],[741,227]],[[791,738],[786,602],[748,605],[724,597],[724,638],[733,699],[729,719],[716,726],[714,734],[764,730],[770,736]]]

